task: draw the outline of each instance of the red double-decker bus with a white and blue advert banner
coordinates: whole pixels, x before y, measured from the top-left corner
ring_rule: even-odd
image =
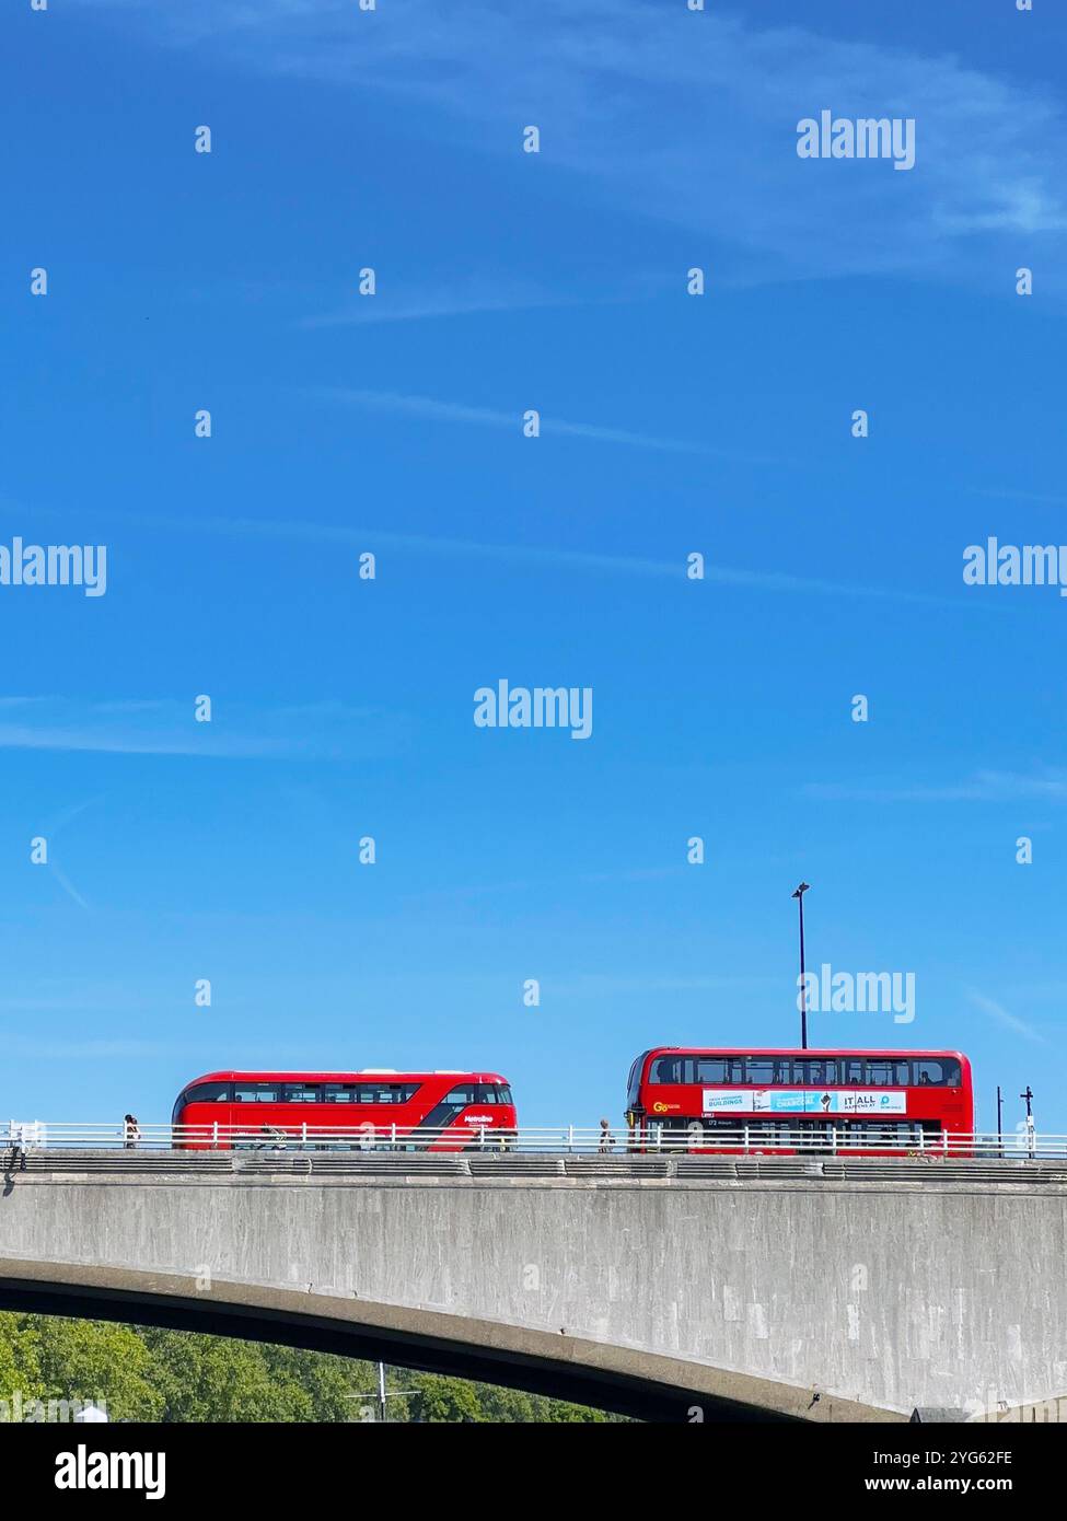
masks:
[[[963,1154],[974,1132],[959,1051],[753,1051],[655,1046],[630,1068],[638,1150],[849,1156]]]

